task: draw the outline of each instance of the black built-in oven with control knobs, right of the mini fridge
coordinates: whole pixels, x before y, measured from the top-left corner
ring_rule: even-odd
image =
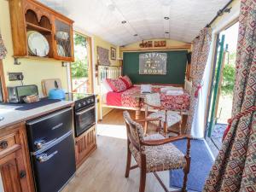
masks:
[[[75,136],[79,137],[84,131],[96,124],[95,96],[87,96],[75,102],[74,125]]]

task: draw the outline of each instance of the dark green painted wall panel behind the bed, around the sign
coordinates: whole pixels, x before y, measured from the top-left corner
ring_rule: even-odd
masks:
[[[132,83],[148,84],[183,84],[185,79],[187,50],[155,51],[167,54],[166,75],[140,75],[139,55],[148,52],[124,52],[123,73],[131,78]]]

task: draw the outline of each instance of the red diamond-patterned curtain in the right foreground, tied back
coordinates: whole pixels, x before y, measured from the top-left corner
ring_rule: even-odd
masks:
[[[241,0],[232,115],[256,106],[256,1]],[[235,119],[203,191],[256,191],[256,112]]]

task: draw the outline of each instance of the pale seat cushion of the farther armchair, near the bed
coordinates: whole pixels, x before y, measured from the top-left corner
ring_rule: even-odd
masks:
[[[148,118],[161,118],[162,122],[161,125],[163,126],[163,122],[166,118],[166,114],[165,111],[159,111],[159,112],[154,112],[154,113],[150,113],[148,115]],[[171,111],[167,111],[167,118],[166,118],[166,123],[167,123],[167,127],[170,127],[172,125],[177,124],[177,122],[181,121],[181,115],[177,114],[177,113],[173,113]],[[153,123],[154,125],[159,125],[159,121],[150,121],[150,123]]]

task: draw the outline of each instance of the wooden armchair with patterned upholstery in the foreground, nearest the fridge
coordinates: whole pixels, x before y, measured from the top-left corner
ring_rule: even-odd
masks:
[[[160,134],[144,137],[143,125],[137,122],[149,122],[152,120],[155,121],[156,119],[135,121],[131,119],[127,111],[124,112],[124,119],[128,137],[125,177],[129,177],[130,170],[139,167],[139,192],[145,191],[146,174],[148,172],[153,172],[163,189],[169,192],[156,172],[183,169],[183,188],[177,191],[187,191],[187,179],[190,167],[190,137],[177,136],[166,138]],[[187,152],[185,155],[172,144],[172,142],[184,138],[188,139]],[[131,154],[137,161],[136,166],[131,166]]]

